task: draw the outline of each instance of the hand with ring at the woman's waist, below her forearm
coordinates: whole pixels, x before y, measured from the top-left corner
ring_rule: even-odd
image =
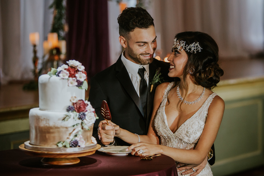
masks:
[[[191,165],[191,164],[186,165],[183,163],[178,163],[177,172],[186,170],[182,172],[182,175],[187,175],[193,172],[193,174],[190,176],[195,176],[195,175],[198,175],[204,169],[206,164],[207,164],[207,157],[204,159],[204,161],[200,165]],[[194,168],[195,172],[192,170],[192,168]]]

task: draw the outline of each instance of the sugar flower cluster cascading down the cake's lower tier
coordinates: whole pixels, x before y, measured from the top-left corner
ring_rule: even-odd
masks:
[[[75,62],[76,63],[76,62]],[[89,127],[94,124],[95,120],[98,119],[95,109],[92,107],[91,103],[87,100],[77,100],[75,96],[71,97],[70,101],[72,105],[67,107],[67,114],[62,121],[68,121],[73,118],[76,121],[81,120],[80,123],[76,123],[72,127],[75,130],[71,133],[68,141],[59,141],[57,146],[59,147],[85,147],[85,141],[82,137],[82,131],[90,130]],[[97,143],[95,139],[92,138],[92,143]]]

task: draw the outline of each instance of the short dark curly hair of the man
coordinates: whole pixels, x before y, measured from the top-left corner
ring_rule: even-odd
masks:
[[[154,26],[153,18],[141,7],[127,7],[117,18],[119,35],[129,39],[135,28],[147,29]]]

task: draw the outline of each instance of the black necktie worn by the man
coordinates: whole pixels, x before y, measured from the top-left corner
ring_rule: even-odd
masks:
[[[141,77],[140,85],[139,85],[139,96],[140,96],[140,101],[143,107],[144,111],[144,117],[146,114],[146,102],[147,102],[147,94],[148,94],[148,85],[147,82],[144,78],[144,73],[145,73],[145,68],[140,68],[138,69],[138,74]]]

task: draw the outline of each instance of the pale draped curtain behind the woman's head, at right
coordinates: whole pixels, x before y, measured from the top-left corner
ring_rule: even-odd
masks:
[[[263,52],[263,0],[154,0],[156,33],[161,34],[163,57],[182,31],[211,35],[222,58],[242,58]]]

